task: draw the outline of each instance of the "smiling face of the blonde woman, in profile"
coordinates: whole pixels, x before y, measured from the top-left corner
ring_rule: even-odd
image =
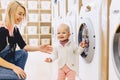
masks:
[[[19,24],[25,16],[25,10],[22,7],[17,7],[15,12],[15,24]]]

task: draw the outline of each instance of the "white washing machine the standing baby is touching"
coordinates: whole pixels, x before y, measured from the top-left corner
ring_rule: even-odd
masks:
[[[91,0],[83,3],[78,20],[78,43],[85,40],[87,48],[79,57],[81,80],[101,80],[101,2]]]

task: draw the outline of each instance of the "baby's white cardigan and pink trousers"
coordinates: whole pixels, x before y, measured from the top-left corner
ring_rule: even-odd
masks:
[[[58,59],[58,80],[65,80],[66,76],[68,80],[75,80],[76,65],[78,65],[76,57],[84,51],[84,48],[68,41],[64,46],[58,43],[53,50],[53,61]]]

